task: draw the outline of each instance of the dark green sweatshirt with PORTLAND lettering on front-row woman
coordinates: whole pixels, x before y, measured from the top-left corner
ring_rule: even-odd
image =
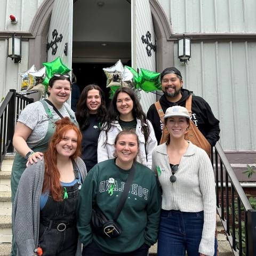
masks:
[[[113,219],[130,170],[119,168],[114,159],[109,159],[95,165],[86,176],[77,207],[77,228],[84,246],[93,239],[104,252],[126,253],[137,250],[143,243],[148,246],[156,243],[161,194],[154,173],[139,163],[135,163],[135,168],[129,194],[117,219],[122,234],[116,238],[92,233],[92,203],[96,202],[106,217]],[[108,193],[109,178],[115,179],[111,196]]]

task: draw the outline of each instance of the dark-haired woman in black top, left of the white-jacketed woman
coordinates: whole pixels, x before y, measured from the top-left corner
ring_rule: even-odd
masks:
[[[87,172],[97,164],[98,138],[105,115],[105,99],[101,88],[97,84],[85,86],[77,103],[76,119],[83,134],[82,159]]]

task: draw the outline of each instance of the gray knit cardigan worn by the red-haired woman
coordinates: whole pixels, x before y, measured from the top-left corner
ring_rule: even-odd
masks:
[[[87,174],[81,158],[75,162],[84,181]],[[17,244],[17,256],[35,255],[39,237],[40,197],[44,181],[44,160],[30,165],[23,172],[12,209],[13,235]],[[81,246],[77,254],[81,255]]]

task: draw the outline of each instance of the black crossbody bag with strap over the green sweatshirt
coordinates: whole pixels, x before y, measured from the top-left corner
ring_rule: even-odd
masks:
[[[108,238],[114,238],[122,233],[121,227],[116,222],[119,214],[121,213],[124,203],[127,199],[131,183],[135,174],[135,166],[132,165],[132,169],[128,175],[127,181],[124,185],[124,191],[120,197],[119,203],[116,207],[116,212],[112,220],[108,220],[105,214],[100,210],[98,205],[94,205],[92,209],[91,226],[94,233],[105,236]]]

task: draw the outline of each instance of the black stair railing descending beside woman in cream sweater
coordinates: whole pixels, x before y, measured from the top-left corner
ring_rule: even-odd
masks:
[[[228,159],[217,142],[211,155],[217,211],[235,256],[256,255],[256,210],[253,210]]]

